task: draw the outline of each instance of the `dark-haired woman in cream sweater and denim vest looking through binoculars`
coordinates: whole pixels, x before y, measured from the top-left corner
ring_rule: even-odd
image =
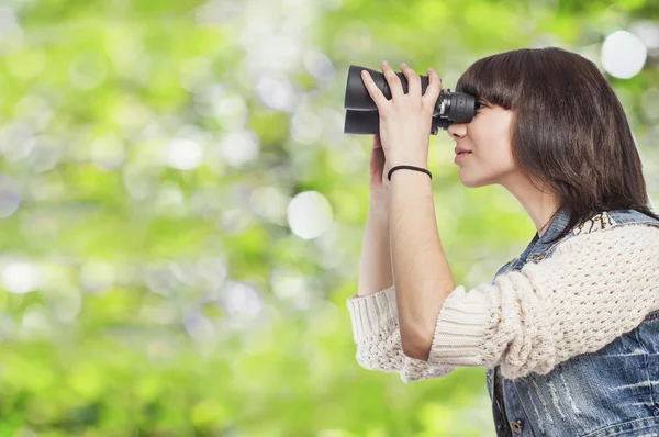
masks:
[[[406,383],[485,368],[499,436],[659,435],[659,216],[606,79],[549,47],[489,56],[458,80],[481,105],[448,128],[460,181],[504,187],[537,229],[466,292],[440,246],[431,178],[417,171],[440,82],[428,70],[421,96],[418,76],[402,69],[407,93],[382,66],[391,100],[364,79],[380,134],[358,293],[347,300],[358,363]],[[399,165],[416,170],[390,172]]]

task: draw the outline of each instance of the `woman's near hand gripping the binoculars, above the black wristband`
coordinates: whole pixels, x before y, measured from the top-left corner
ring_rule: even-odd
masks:
[[[400,78],[383,61],[382,74],[391,89],[388,100],[368,72],[361,78],[380,115],[380,141],[389,167],[399,165],[427,168],[428,144],[433,124],[433,112],[442,92],[442,79],[428,68],[428,87],[421,94],[421,77],[406,64],[401,71],[407,78],[407,93],[403,92]]]

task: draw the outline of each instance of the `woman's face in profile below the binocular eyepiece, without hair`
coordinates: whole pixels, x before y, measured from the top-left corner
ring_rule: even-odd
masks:
[[[472,152],[456,163],[460,182],[468,188],[506,186],[516,172],[510,137],[513,112],[482,99],[478,102],[484,105],[470,123],[453,123],[447,131],[456,146]]]

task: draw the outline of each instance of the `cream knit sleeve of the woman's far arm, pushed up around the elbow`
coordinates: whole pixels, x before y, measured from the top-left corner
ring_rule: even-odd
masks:
[[[454,370],[455,366],[432,365],[403,352],[393,287],[351,295],[347,305],[357,345],[355,358],[362,368],[399,373],[405,383],[445,377]]]

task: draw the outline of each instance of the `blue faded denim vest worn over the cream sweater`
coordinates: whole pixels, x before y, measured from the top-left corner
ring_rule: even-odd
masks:
[[[582,233],[659,226],[659,221],[635,210],[608,211],[547,244],[568,218],[560,209],[543,237],[536,233],[522,255],[494,278],[551,257],[559,244]],[[659,310],[602,349],[574,356],[547,374],[506,379],[495,366],[485,369],[485,377],[498,437],[659,436]]]

